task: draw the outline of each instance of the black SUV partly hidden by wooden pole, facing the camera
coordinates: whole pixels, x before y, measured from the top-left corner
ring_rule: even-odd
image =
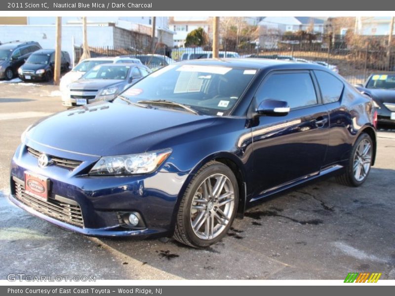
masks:
[[[69,53],[62,51],[60,72],[69,71],[69,66]],[[40,49],[30,55],[26,63],[18,69],[18,75],[23,81],[49,81],[53,78],[54,68],[55,50]]]

